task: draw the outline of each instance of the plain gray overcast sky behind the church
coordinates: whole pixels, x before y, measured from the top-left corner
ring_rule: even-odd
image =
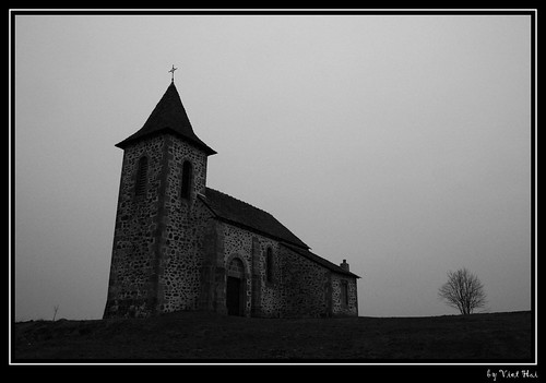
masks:
[[[15,319],[98,319],[122,151],[175,83],[207,185],[346,259],[359,314],[531,309],[530,16],[15,17]]]

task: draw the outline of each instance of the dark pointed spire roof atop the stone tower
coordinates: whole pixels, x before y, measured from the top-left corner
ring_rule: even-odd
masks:
[[[180,95],[174,82],[167,87],[167,91],[155,106],[155,109],[152,111],[152,115],[150,115],[144,125],[134,134],[116,144],[116,146],[126,148],[130,143],[136,140],[161,132],[173,133],[202,148],[206,155],[216,154],[214,149],[209,147],[195,135],[195,133],[193,133],[190,119],[186,113],[182,100],[180,99]]]

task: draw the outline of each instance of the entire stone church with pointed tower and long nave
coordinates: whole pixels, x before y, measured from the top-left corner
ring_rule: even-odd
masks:
[[[359,278],[271,214],[206,187],[207,157],[174,80],[123,149],[104,318],[210,310],[358,315]]]

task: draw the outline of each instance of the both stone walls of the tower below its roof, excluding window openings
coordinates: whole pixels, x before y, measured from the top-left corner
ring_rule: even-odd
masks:
[[[149,158],[146,191],[134,195],[138,161]],[[191,163],[188,199],[182,165]],[[201,291],[204,236],[211,213],[204,193],[206,155],[164,134],[128,146],[123,154],[105,316],[147,316],[194,310]]]

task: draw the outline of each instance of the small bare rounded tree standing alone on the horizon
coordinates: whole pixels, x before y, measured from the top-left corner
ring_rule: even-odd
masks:
[[[466,268],[448,272],[448,282],[440,287],[438,296],[446,299],[448,306],[459,309],[463,315],[472,314],[474,309],[486,303],[484,286]]]

